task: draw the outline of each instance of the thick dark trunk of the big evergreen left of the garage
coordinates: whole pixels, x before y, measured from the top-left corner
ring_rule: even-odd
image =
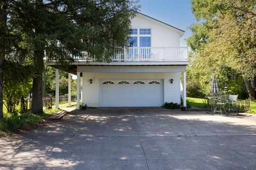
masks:
[[[33,79],[32,87],[32,112],[34,114],[43,113],[43,51],[35,51],[34,64],[36,67],[36,77]]]

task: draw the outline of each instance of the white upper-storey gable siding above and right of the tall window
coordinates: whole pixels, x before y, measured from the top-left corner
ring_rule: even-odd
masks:
[[[179,47],[180,35],[178,32],[163,27],[156,22],[135,16],[132,19],[132,28],[151,28],[151,46],[152,47]]]

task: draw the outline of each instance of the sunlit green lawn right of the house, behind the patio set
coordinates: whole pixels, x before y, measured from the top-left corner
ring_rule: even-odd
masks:
[[[207,108],[206,99],[187,97],[187,103],[190,106]],[[248,111],[248,113],[256,114],[256,100],[250,101],[250,111]]]

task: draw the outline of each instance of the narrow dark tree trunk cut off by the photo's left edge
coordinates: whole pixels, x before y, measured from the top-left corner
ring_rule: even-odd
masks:
[[[4,25],[6,25],[6,17],[4,14],[4,8],[5,8],[5,6],[4,6],[3,2],[0,3],[0,25],[1,25],[1,27],[5,27]],[[1,28],[1,30],[4,30],[4,28]],[[0,33],[3,33],[3,32],[0,31]],[[4,118],[4,113],[3,113],[4,57],[5,57],[4,50],[0,50],[0,119]]]

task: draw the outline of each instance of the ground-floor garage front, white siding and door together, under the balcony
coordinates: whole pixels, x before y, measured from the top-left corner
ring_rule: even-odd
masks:
[[[178,72],[102,73],[95,71],[97,72],[83,72],[83,78],[81,78],[83,105],[161,107],[165,102],[180,103]],[[173,79],[172,83],[171,79]]]

